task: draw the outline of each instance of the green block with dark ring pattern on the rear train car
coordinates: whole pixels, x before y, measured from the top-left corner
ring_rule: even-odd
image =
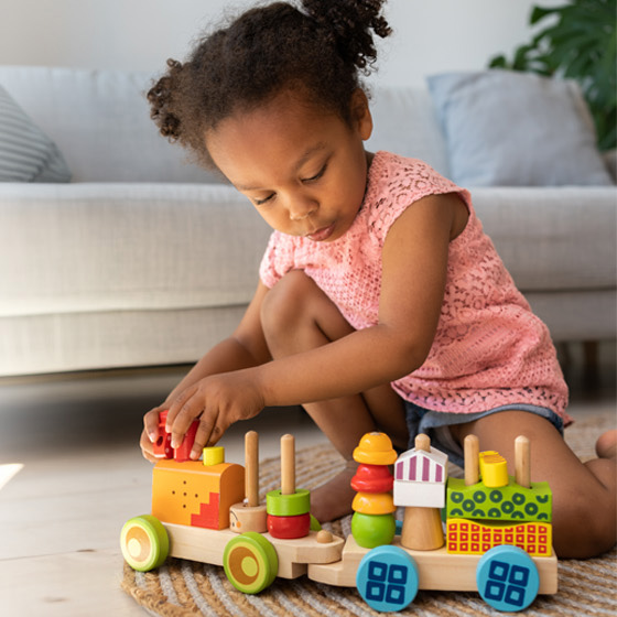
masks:
[[[510,476],[508,486],[490,488],[481,481],[465,486],[464,479],[447,480],[448,519],[551,522],[552,502],[549,483],[531,483],[524,488]]]

